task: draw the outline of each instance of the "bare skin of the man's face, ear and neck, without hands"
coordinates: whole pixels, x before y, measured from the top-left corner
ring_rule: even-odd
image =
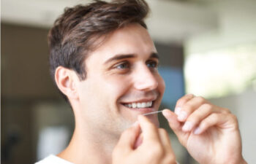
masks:
[[[165,83],[157,71],[156,54],[148,31],[130,24],[114,31],[89,54],[85,80],[80,81],[75,71],[56,69],[56,84],[75,114],[72,140],[59,157],[72,163],[112,163],[121,133],[138,115],[159,109]],[[141,101],[154,103],[147,109],[124,106]],[[148,118],[158,125],[157,116]]]

